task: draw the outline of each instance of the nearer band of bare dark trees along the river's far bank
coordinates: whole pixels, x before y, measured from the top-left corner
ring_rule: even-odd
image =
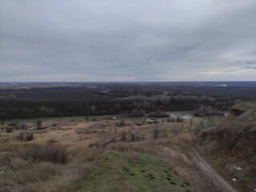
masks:
[[[132,110],[145,112],[170,110],[196,110],[200,106],[210,106],[215,110],[228,110],[234,101],[226,98],[206,96],[154,95],[114,99],[109,101],[61,101],[61,100],[0,100],[0,118],[41,118],[72,115],[129,114]]]

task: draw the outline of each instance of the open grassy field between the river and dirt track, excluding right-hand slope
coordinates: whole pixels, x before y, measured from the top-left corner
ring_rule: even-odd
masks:
[[[196,162],[176,144],[193,145],[196,128],[212,125],[208,118],[140,126],[120,121],[45,121],[39,129],[27,122],[10,133],[2,125],[0,191],[208,191],[214,185],[199,172],[194,178]],[[26,141],[27,134],[34,138]]]

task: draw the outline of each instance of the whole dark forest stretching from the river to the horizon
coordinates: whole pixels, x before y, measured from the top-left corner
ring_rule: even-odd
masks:
[[[222,114],[235,102],[255,99],[255,95],[254,86],[111,83],[4,87],[0,89],[0,118],[131,114],[133,110],[194,110],[195,115],[202,116]]]

